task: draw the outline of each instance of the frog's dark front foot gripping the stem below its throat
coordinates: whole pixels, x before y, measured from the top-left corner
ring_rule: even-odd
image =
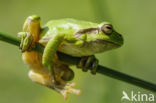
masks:
[[[80,63],[77,65],[78,68],[82,68],[84,72],[87,72],[91,68],[91,73],[96,74],[99,61],[94,55],[82,57]]]

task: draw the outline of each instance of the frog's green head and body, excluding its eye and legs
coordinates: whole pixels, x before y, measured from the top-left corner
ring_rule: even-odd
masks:
[[[97,24],[75,19],[52,20],[43,27],[39,42],[47,44],[53,35],[64,34],[58,50],[78,57],[120,47],[123,44],[122,36],[114,29],[111,34],[105,34],[101,30],[104,24],[110,23]]]

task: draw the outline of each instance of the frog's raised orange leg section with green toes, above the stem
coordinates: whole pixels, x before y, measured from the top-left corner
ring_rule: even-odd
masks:
[[[26,19],[23,32],[18,33],[21,38],[20,49],[22,52],[30,51],[35,46],[35,42],[38,42],[39,39],[40,29],[39,16],[33,15]]]

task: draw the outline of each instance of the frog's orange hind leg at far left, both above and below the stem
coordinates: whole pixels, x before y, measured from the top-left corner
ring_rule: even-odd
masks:
[[[23,32],[18,33],[18,35],[21,38],[20,49],[22,51],[24,62],[37,71],[45,71],[46,69],[41,69],[43,68],[40,60],[42,59],[41,55],[37,52],[31,51],[35,42],[38,42],[40,30],[40,17],[32,15],[25,20]]]

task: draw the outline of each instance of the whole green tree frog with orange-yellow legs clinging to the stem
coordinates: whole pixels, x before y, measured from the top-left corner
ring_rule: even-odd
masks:
[[[74,72],[69,64],[59,60],[58,51],[81,58],[76,67],[83,72],[91,68],[91,73],[96,74],[99,61],[95,54],[123,45],[123,36],[110,22],[93,23],[65,18],[50,20],[41,26],[38,15],[26,18],[23,31],[18,36],[22,58],[30,67],[29,78],[59,92],[65,99],[68,93],[79,95],[81,90],[75,89],[76,83],[70,82]],[[44,46],[43,53],[32,50],[36,43]]]

